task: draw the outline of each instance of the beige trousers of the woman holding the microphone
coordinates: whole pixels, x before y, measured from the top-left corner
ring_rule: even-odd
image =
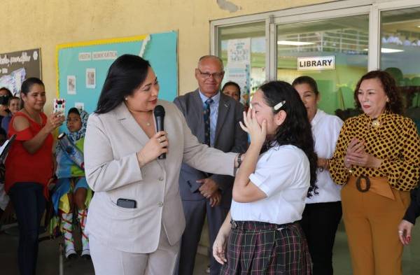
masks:
[[[96,275],[172,275],[180,244],[171,246],[160,230],[158,249],[153,253],[129,253],[105,246],[89,236],[90,255]]]

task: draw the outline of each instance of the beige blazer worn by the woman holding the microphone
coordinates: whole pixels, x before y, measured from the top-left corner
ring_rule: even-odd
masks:
[[[125,104],[105,114],[92,114],[85,136],[85,174],[94,190],[87,216],[87,232],[103,244],[130,253],[158,248],[160,230],[169,243],[180,239],[185,227],[179,173],[182,162],[209,173],[233,176],[235,153],[200,144],[176,106],[164,106],[169,139],[166,160],[139,167],[136,153],[148,136]],[[117,206],[117,199],[134,199],[136,209]]]

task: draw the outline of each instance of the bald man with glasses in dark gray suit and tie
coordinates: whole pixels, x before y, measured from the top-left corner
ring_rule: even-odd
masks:
[[[206,55],[200,58],[195,69],[199,88],[174,100],[186,117],[188,127],[200,143],[224,152],[244,153],[247,135],[239,127],[243,106],[220,92],[224,76],[223,62],[219,57]],[[234,178],[207,174],[183,163],[179,176],[179,190],[186,216],[186,230],[181,241],[179,275],[192,275],[195,254],[200,241],[204,218],[209,223],[210,247],[216,239],[232,201]],[[212,253],[210,274],[219,274],[221,265]]]

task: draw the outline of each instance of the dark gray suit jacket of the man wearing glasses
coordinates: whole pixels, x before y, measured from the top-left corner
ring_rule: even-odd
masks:
[[[204,118],[203,118],[203,102],[200,98],[198,90],[188,92],[174,100],[174,104],[178,106],[186,118],[188,127],[191,132],[197,136],[200,143],[204,143]],[[221,100],[218,106],[218,118],[216,123],[216,133],[214,148],[223,152],[244,153],[248,146],[248,136],[239,126],[239,121],[243,118],[244,106],[232,97],[221,94]],[[205,199],[200,192],[191,192],[190,184],[195,183],[198,179],[208,178],[208,174],[203,171],[194,169],[188,164],[183,163],[181,166],[181,175],[179,176],[179,190],[183,200],[201,200]],[[232,200],[232,186],[234,177],[213,174],[210,176],[222,191],[223,206],[230,206]]]

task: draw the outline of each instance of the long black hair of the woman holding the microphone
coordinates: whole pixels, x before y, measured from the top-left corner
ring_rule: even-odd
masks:
[[[137,55],[121,55],[109,67],[95,113],[108,113],[146,79],[151,64]]]

